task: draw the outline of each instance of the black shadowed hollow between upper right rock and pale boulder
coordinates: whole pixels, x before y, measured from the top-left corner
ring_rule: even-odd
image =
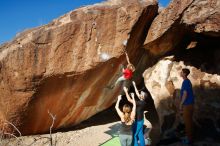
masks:
[[[174,55],[174,61],[184,61],[202,72],[220,75],[220,37],[202,34],[188,34],[173,51],[165,56]]]

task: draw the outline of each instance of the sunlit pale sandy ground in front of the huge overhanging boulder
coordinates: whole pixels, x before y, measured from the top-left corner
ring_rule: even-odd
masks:
[[[56,146],[99,146],[117,133],[120,122],[91,126],[70,132],[57,132],[52,135]],[[24,136],[5,140],[1,146],[50,146],[50,135]]]

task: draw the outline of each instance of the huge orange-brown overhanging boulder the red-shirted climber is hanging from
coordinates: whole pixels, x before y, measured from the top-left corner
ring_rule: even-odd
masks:
[[[115,102],[120,64],[142,64],[156,1],[111,0],[79,8],[0,46],[0,127],[22,134],[77,124]],[[127,46],[126,46],[127,45]],[[126,47],[125,47],[126,46]],[[137,59],[138,58],[138,59]],[[142,66],[143,67],[143,66]],[[137,68],[138,70],[138,68]]]

